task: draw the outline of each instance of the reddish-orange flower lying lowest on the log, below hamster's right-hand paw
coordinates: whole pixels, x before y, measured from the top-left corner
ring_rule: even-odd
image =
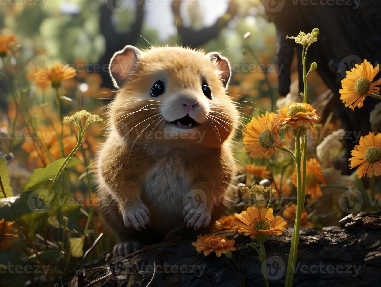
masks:
[[[208,256],[210,252],[215,252],[217,257],[220,257],[227,250],[235,250],[235,247],[233,247],[234,243],[233,239],[226,239],[225,236],[209,234],[197,236],[197,241],[192,242],[192,245],[196,247],[197,252],[203,252],[205,256]]]

